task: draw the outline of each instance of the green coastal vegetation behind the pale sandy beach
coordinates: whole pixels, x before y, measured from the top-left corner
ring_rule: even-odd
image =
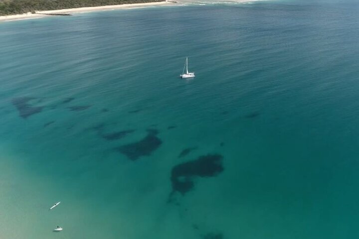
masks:
[[[0,15],[164,0],[0,0]]]

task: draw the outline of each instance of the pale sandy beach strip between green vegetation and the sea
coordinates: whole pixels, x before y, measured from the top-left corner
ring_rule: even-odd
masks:
[[[36,11],[36,13],[28,12],[28,13],[23,13],[23,14],[0,16],[0,22],[28,20],[28,19],[36,19],[36,18],[51,16],[51,15],[44,15],[44,14],[81,13],[81,12],[91,12],[91,11],[115,10],[115,9],[122,9],[122,8],[127,9],[127,8],[135,8],[135,7],[170,5],[170,4],[174,4],[174,2],[154,1],[154,2],[144,2],[144,3],[129,3],[129,4],[120,4],[120,5],[89,6],[89,7],[79,7],[79,8],[48,10],[48,11]]]

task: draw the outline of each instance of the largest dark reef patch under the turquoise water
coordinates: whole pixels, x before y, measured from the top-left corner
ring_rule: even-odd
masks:
[[[170,198],[174,192],[184,195],[190,191],[194,186],[194,177],[214,177],[222,172],[222,158],[220,154],[207,154],[173,167],[171,172],[173,191]]]

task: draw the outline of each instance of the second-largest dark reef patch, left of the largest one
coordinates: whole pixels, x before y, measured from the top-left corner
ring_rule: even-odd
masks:
[[[157,129],[147,129],[147,131],[147,136],[140,141],[120,146],[117,150],[131,160],[137,160],[139,157],[151,155],[151,153],[162,144],[162,140],[156,136],[158,134]]]

